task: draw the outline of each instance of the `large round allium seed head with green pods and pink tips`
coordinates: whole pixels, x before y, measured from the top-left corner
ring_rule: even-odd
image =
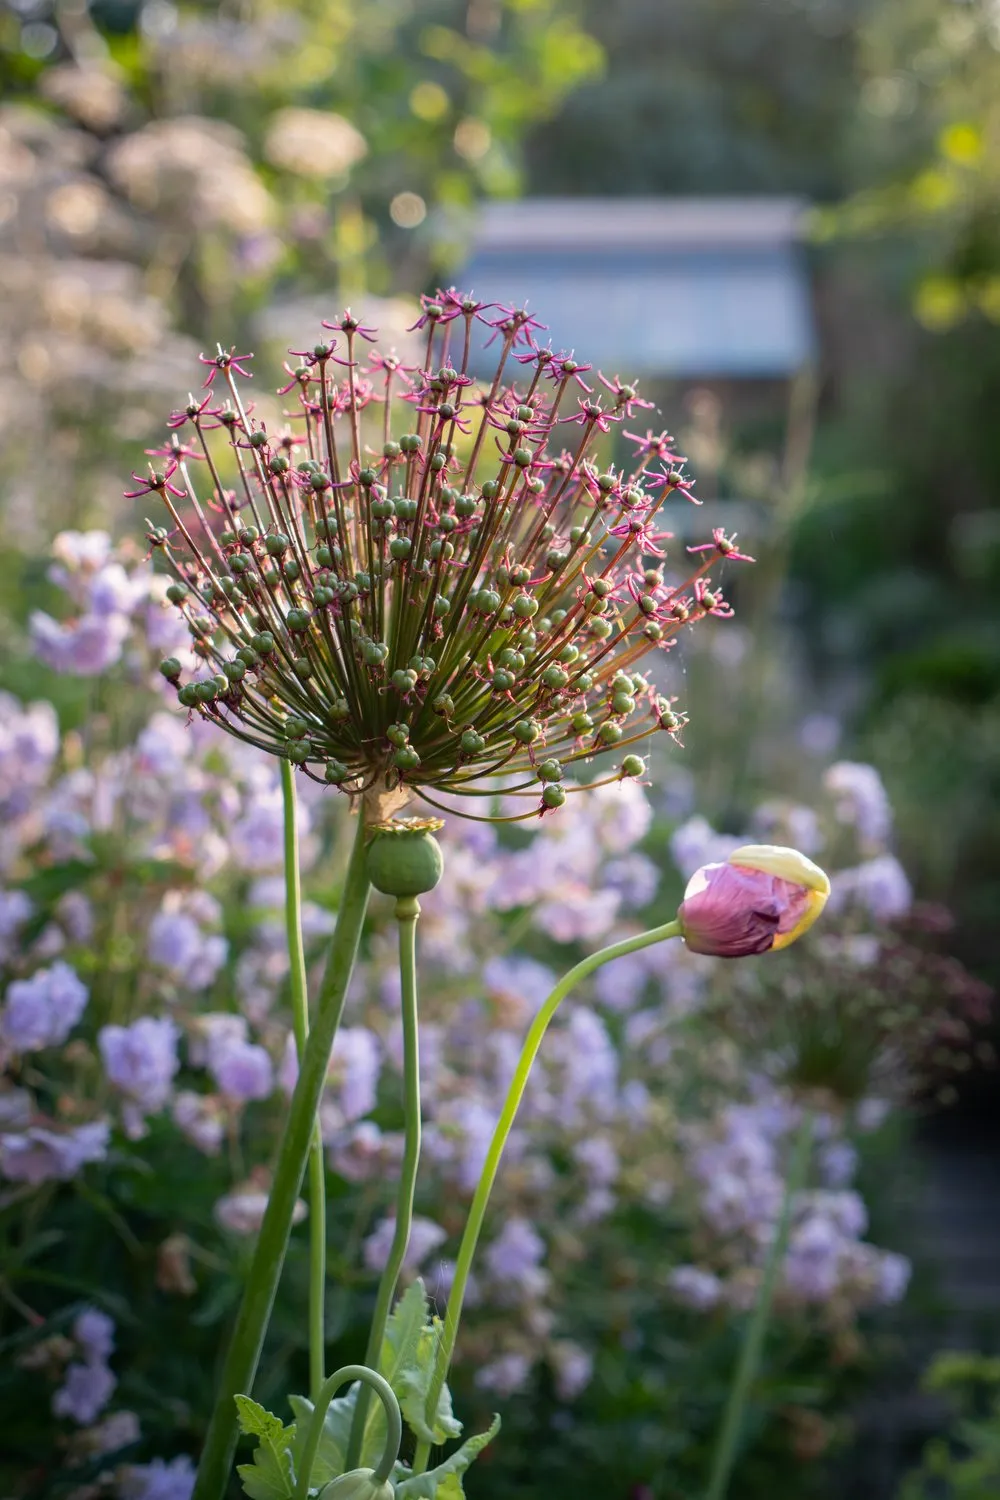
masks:
[[[520,310],[490,320],[499,357],[480,387],[477,318],[453,291],[424,298],[417,370],[363,362],[351,314],[325,324],[336,336],[289,368],[297,411],[276,432],[244,402],[249,356],[219,350],[130,496],[166,512],[148,537],[204,663],[181,681],[163,662],[181,705],[349,794],[435,801],[504,774],[544,812],[573,766],[678,734],[636,664],[730,614],[709,570],[744,555],[720,531],[664,582],[664,502],[693,498],[669,435],[633,438],[634,466],[603,471],[597,441],[634,387],[579,398],[580,366],[540,348]],[[613,776],[642,771],[625,754]]]

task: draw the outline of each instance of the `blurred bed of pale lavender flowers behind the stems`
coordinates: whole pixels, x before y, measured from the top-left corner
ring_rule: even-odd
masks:
[[[166,705],[156,663],[183,642],[147,561],[103,532],[63,532],[49,578],[61,608],[31,618],[34,650],[91,678],[108,708],[60,732],[51,702],[6,696],[0,722],[0,1336],[16,1444],[4,1480],[15,1494],[160,1500],[190,1488],[295,1076],[280,790],[273,760]],[[409,1252],[439,1304],[555,975],[672,910],[697,866],[745,842],[693,813],[679,754],[651,786],[583,794],[528,832],[448,819],[447,874],[421,922],[429,1170]],[[804,1107],[811,1179],[760,1398],[772,1464],[834,1442],[867,1317],[907,1290],[906,1254],[868,1238],[859,1154],[916,1088],[951,1086],[988,992],[936,952],[946,924],[913,902],[877,772],[837,762],[814,790],[813,804],[762,802],[745,832],[823,858],[823,932],[766,964],[681,946],[609,964],[553,1026],[498,1186],[459,1384],[474,1406],[514,1398],[516,1413],[544,1392],[549,1424],[577,1432],[571,1450],[586,1434],[607,1492],[696,1492]],[[322,788],[306,784],[301,806],[318,957],[348,830]],[[322,1106],[345,1356],[391,1238],[396,1014],[385,909]],[[298,1242],[264,1401],[304,1358],[304,1270]],[[612,1418],[625,1392],[627,1416]],[[478,1492],[502,1492],[492,1485],[519,1450],[483,1466]]]

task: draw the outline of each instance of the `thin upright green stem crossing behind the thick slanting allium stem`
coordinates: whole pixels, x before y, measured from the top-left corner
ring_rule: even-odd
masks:
[[[295,772],[282,760],[282,804],[285,813],[285,932],[288,936],[288,982],[292,1000],[295,1052],[301,1066],[309,1038],[309,999],[306,994],[306,950],[301,936],[301,880],[298,874],[298,824],[295,820]],[[319,1122],[313,1125],[309,1150],[309,1394],[319,1400],[325,1374],[324,1300],[327,1287],[327,1172],[322,1160]]]

